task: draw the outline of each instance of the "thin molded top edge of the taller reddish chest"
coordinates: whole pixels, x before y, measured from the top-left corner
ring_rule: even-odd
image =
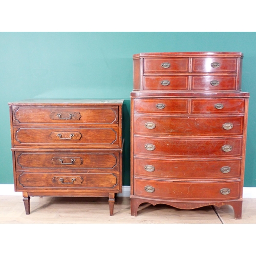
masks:
[[[182,56],[182,57],[192,57],[192,56],[218,56],[218,57],[227,57],[230,55],[232,57],[243,57],[242,52],[148,52],[148,53],[138,53],[133,55],[133,59],[141,57],[173,57],[173,56]]]

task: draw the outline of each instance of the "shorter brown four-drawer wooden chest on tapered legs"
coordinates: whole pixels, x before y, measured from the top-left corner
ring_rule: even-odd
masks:
[[[15,191],[31,196],[108,197],[122,191],[123,100],[9,103]]]

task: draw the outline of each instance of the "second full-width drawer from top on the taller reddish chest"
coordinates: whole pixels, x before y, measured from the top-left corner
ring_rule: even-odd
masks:
[[[135,154],[179,157],[237,157],[242,139],[134,138]]]

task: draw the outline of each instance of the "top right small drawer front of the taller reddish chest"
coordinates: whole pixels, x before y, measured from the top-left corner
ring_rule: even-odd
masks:
[[[194,58],[192,72],[237,72],[237,58]]]

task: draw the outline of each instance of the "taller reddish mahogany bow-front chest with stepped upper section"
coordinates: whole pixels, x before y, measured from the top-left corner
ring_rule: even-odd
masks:
[[[243,54],[133,56],[131,215],[142,203],[233,207],[242,216],[249,93]]]

